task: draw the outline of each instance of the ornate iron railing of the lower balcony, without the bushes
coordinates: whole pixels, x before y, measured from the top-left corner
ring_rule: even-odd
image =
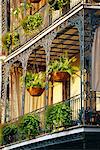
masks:
[[[96,99],[97,99],[98,105],[100,105],[100,96],[97,96]],[[37,135],[34,135],[34,136],[31,135],[29,137],[22,138],[22,137],[20,137],[21,132],[19,132],[20,134],[16,132],[15,135],[17,135],[17,136],[12,135],[10,133],[10,136],[7,135],[7,136],[9,136],[8,143],[7,143],[7,141],[5,143],[5,141],[3,140],[1,145],[11,144],[13,142],[19,142],[19,141],[21,142],[23,140],[27,140],[27,138],[29,139],[29,138],[34,138],[35,136],[43,136],[45,134],[49,134],[50,132],[54,133],[54,132],[63,131],[66,128],[69,128],[69,127],[72,127],[72,126],[85,125],[85,124],[87,124],[87,125],[97,125],[97,126],[100,125],[100,111],[99,111],[100,107],[98,106],[99,109],[97,111],[96,110],[94,111],[94,110],[89,109],[89,108],[83,108],[81,106],[83,104],[81,103],[80,95],[77,95],[77,96],[72,97],[68,100],[65,100],[65,101],[59,102],[57,104],[50,105],[50,106],[54,107],[54,106],[58,105],[58,107],[59,107],[61,105],[63,107],[62,104],[66,104],[71,110],[71,116],[69,118],[70,119],[70,124],[69,125],[67,124],[67,125],[63,126],[63,124],[61,124],[61,126],[58,127],[58,125],[57,125],[57,128],[54,128],[54,125],[52,124],[51,128],[47,129],[47,126],[46,126],[47,125],[47,122],[46,122],[46,117],[47,117],[46,115],[47,114],[46,114],[46,112],[47,112],[47,109],[48,109],[49,106],[48,107],[42,107],[42,108],[37,109],[33,112],[30,112],[29,114],[26,114],[26,116],[27,115],[31,115],[31,116],[37,115],[39,117],[40,125],[37,128]],[[64,107],[65,107],[65,105],[64,105]],[[68,113],[68,109],[66,110],[66,113]],[[51,115],[52,115],[52,113],[51,113]],[[64,113],[64,115],[65,115],[65,113]],[[12,125],[18,125],[18,127],[20,127],[20,120],[23,119],[23,117],[25,117],[25,115],[21,116],[19,118],[15,118],[13,120],[10,120],[9,122],[7,122],[5,125],[2,125],[2,126],[10,125],[10,127],[12,128],[13,127]],[[51,116],[51,118],[52,118],[52,116]],[[59,122],[59,120],[60,120],[60,118],[58,117],[58,122]],[[51,123],[54,123],[54,122],[51,122]],[[27,120],[26,120],[26,124],[27,124]],[[24,128],[26,126],[24,126]],[[2,127],[1,127],[1,130],[2,130]],[[31,129],[28,129],[28,130],[31,130]],[[13,130],[12,130],[12,132],[13,132]],[[4,133],[4,131],[3,131],[3,133]],[[3,137],[3,135],[1,137]]]

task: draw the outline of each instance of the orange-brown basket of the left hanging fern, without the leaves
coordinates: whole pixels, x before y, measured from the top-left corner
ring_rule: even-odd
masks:
[[[44,92],[44,89],[45,88],[40,88],[40,87],[30,87],[27,90],[31,96],[41,96],[42,93]]]

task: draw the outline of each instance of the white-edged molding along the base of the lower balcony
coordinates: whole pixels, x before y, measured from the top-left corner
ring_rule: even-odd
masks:
[[[46,146],[62,144],[62,143],[69,143],[73,141],[80,141],[85,139],[85,134],[91,133],[99,133],[99,127],[91,127],[91,126],[77,126],[71,127],[66,131],[43,135],[41,137],[37,137],[36,139],[23,141],[21,143],[15,143],[13,145],[7,146],[4,150],[9,149],[36,149],[36,148],[46,148]]]

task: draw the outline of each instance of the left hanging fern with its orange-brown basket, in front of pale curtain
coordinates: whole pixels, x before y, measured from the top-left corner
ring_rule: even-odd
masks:
[[[40,96],[45,89],[45,73],[26,73],[26,88],[31,96]]]

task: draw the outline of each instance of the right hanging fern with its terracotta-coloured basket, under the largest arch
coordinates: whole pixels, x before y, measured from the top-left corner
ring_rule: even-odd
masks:
[[[66,54],[59,57],[58,60],[50,62],[48,66],[48,74],[51,75],[51,80],[55,82],[67,80],[69,75],[73,75],[79,70],[77,66],[73,65],[76,60],[75,57],[69,58]]]

